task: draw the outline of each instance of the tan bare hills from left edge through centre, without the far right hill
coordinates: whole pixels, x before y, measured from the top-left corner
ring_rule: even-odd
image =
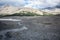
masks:
[[[10,5],[6,5],[0,8],[0,15],[11,15],[19,12],[21,13],[31,12],[31,13],[43,15],[42,11],[33,8],[26,8],[26,7],[20,8],[20,7],[10,6]]]

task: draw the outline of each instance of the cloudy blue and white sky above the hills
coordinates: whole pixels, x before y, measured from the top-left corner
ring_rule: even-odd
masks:
[[[55,7],[60,3],[60,0],[0,0],[0,5],[11,4],[15,6],[46,8]]]

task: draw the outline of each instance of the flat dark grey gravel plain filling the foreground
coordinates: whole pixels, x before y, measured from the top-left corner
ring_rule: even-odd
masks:
[[[3,17],[20,21],[0,20],[0,40],[60,40],[60,17]]]

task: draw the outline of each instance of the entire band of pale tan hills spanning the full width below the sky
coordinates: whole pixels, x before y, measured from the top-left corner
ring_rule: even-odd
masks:
[[[33,8],[27,8],[27,7],[15,7],[15,6],[10,6],[10,5],[5,5],[0,7],[0,15],[12,15],[15,13],[36,13],[39,15],[56,15],[56,14],[60,14],[60,9],[55,8],[55,9],[45,9],[45,10],[40,10],[40,9],[33,9]]]

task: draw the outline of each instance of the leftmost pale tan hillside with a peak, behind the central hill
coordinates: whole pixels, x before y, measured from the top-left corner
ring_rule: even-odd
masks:
[[[13,7],[13,6],[3,6],[0,8],[0,14],[6,15],[6,14],[13,14],[15,13],[19,8]]]

